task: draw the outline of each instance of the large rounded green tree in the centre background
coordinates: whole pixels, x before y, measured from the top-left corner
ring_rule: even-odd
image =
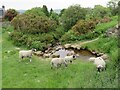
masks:
[[[85,19],[86,11],[80,5],[68,7],[61,16],[61,23],[68,31],[79,19]]]

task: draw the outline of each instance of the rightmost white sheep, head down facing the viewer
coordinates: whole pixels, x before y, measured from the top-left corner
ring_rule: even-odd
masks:
[[[97,57],[94,60],[94,64],[96,65],[97,71],[101,72],[103,70],[106,70],[106,63],[101,57]]]

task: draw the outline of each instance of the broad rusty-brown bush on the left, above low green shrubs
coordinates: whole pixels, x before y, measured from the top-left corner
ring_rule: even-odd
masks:
[[[16,32],[20,31],[30,34],[47,33],[54,31],[56,28],[55,21],[49,20],[47,17],[37,16],[34,14],[18,15],[11,23]]]

